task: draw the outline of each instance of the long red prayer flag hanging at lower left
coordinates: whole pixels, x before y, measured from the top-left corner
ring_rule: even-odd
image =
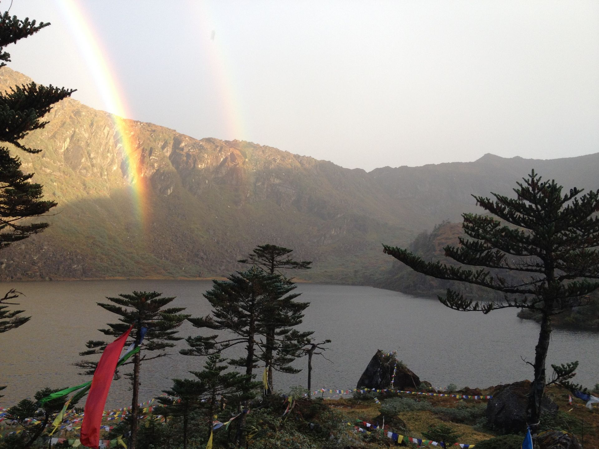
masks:
[[[85,402],[81,436],[79,438],[84,446],[98,448],[100,424],[102,423],[102,413],[108,397],[108,390],[110,390],[110,383],[113,380],[120,353],[132,328],[133,326],[129,327],[123,335],[106,347],[102,357],[100,357],[96,371],[93,373],[92,386]]]

